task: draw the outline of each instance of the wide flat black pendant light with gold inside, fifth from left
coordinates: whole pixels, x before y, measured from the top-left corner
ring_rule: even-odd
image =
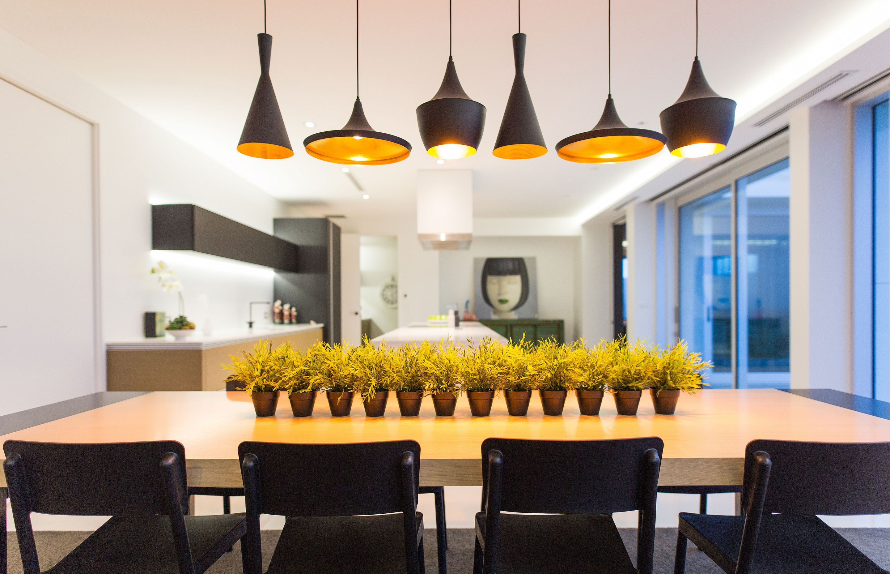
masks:
[[[603,116],[589,132],[570,135],[556,144],[563,160],[578,163],[616,163],[640,160],[661,151],[665,136],[651,129],[627,127],[611,98],[611,0],[609,1],[609,97]]]

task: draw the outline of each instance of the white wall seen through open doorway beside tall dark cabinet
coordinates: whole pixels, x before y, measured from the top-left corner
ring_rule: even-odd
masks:
[[[389,307],[380,298],[380,288],[390,280],[399,281],[399,245],[392,235],[362,235],[359,261],[361,267],[361,318],[372,322],[373,339],[399,326],[399,307]]]

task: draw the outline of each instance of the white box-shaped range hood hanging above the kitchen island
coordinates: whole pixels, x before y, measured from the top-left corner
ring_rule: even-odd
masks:
[[[473,170],[417,171],[417,239],[425,250],[470,249]]]

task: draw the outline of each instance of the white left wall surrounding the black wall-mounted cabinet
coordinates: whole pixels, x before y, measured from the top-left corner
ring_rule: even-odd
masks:
[[[282,211],[279,201],[3,29],[0,76],[98,126],[104,340],[141,336],[144,311],[176,311],[175,295],[161,292],[149,274],[156,260],[150,255],[150,201],[195,203],[271,232],[272,218]],[[237,138],[232,134],[232,145]],[[208,307],[216,328],[243,326],[248,301],[271,299],[266,270],[163,257],[182,277],[187,312],[200,315]]]

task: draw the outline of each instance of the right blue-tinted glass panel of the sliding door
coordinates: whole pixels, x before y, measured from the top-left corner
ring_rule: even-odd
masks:
[[[740,389],[790,386],[789,163],[736,182]]]

